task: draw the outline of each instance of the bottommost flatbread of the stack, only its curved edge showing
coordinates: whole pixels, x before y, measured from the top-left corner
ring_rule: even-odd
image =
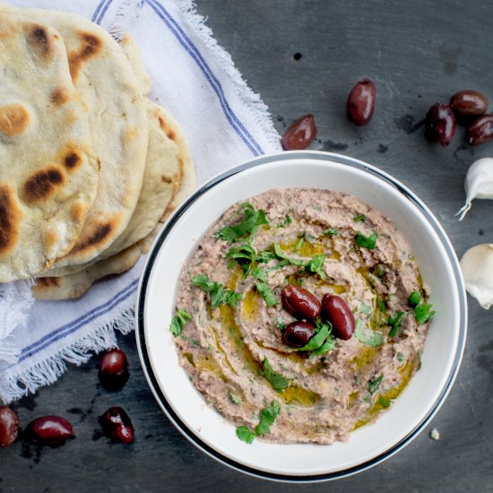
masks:
[[[160,110],[162,111],[162,108],[160,108]],[[168,119],[169,118],[170,116],[168,115]],[[192,159],[192,153],[186,143],[185,134],[183,134],[183,131],[180,126],[177,125],[174,118],[172,121],[176,125],[173,126],[175,134],[177,136],[179,135],[176,142],[180,155],[183,158],[182,162],[184,163],[183,178],[181,186],[179,190],[177,190],[177,194],[173,197],[173,200],[166,208],[166,211],[162,214],[160,222],[152,229],[149,235],[138,241],[134,246],[126,248],[117,255],[101,260],[83,271],[74,272],[73,274],[66,276],[38,279],[36,284],[32,287],[34,298],[45,300],[79,298],[91,288],[91,285],[94,282],[111,274],[128,271],[137,263],[140,255],[145,255],[149,252],[154,239],[163,227],[163,222],[168,220],[169,215],[178,205],[186,200],[188,195],[195,190],[196,186],[194,161]]]

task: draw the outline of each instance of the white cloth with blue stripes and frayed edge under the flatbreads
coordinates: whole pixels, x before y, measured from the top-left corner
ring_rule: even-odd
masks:
[[[186,132],[199,184],[281,149],[264,103],[212,38],[191,0],[5,1],[81,13],[115,37],[130,32],[151,75],[151,99],[168,108]],[[27,281],[0,284],[0,399],[11,402],[34,392],[55,382],[67,362],[81,364],[92,351],[116,347],[115,331],[134,328],[142,269],[143,259],[72,301],[34,301]]]

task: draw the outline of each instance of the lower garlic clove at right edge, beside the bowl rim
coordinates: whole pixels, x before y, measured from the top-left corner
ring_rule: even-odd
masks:
[[[493,305],[493,244],[471,247],[461,259],[465,288],[489,309]]]

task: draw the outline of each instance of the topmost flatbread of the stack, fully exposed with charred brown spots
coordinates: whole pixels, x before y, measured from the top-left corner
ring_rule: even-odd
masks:
[[[74,247],[99,164],[56,30],[0,12],[0,88],[0,282],[8,282]]]

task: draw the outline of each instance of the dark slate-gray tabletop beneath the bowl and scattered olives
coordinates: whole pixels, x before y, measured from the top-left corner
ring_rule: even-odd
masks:
[[[320,138],[313,148],[367,160],[402,180],[437,214],[458,255],[493,242],[493,203],[477,201],[463,223],[454,219],[468,165],[493,155],[493,143],[472,150],[459,129],[442,149],[425,141],[421,126],[428,107],[454,91],[476,88],[493,101],[493,4],[209,0],[199,11],[262,94],[281,133],[294,118],[313,113]],[[363,76],[376,82],[378,105],[371,124],[357,128],[344,108],[350,87]],[[475,300],[470,305],[467,349],[445,405],[411,445],[373,470],[301,487],[255,480],[215,463],[161,414],[130,335],[121,338],[132,370],[121,392],[99,387],[94,358],[15,406],[24,425],[35,416],[64,415],[77,437],[40,454],[22,452],[21,444],[0,451],[0,492],[493,491],[492,314]],[[110,445],[94,432],[109,405],[122,405],[134,420],[134,445]],[[434,427],[439,441],[428,437]]]

